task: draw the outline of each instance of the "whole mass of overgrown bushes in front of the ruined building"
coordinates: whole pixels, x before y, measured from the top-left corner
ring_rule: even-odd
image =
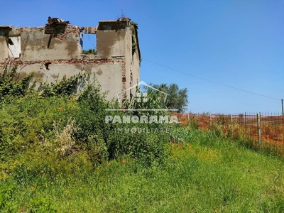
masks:
[[[60,175],[92,170],[124,155],[141,159],[147,166],[168,157],[165,145],[170,141],[170,134],[165,131],[170,129],[170,124],[106,122],[109,115],[141,116],[143,113],[107,111],[121,108],[116,102],[106,101],[106,94],[97,82],[87,85],[76,97],[72,95],[76,85],[84,83],[86,77],[75,75],[57,84],[42,83],[39,90],[25,90],[20,96],[7,92],[11,95],[2,99],[0,158],[18,184],[32,185],[42,178],[52,182]],[[148,94],[147,106],[133,102],[128,106],[129,109],[160,109],[159,99],[155,93]],[[165,114],[151,111],[146,115]],[[140,129],[143,131],[139,132]],[[4,167],[1,165],[1,168]]]

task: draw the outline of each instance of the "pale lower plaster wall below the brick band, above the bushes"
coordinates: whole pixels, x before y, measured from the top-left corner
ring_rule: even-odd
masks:
[[[77,62],[77,63],[76,63]],[[121,92],[122,80],[121,70],[124,65],[124,60],[97,60],[87,64],[82,64],[81,61],[74,61],[72,64],[67,63],[52,63],[48,65],[49,70],[46,70],[44,64],[31,64],[18,66],[18,78],[28,75],[33,70],[35,78],[46,82],[58,82],[64,75],[67,78],[76,75],[80,72],[89,74],[87,83],[93,84],[94,77],[102,87],[102,91],[107,92],[107,99],[111,100],[116,97],[116,93]],[[122,99],[122,94],[119,97]]]

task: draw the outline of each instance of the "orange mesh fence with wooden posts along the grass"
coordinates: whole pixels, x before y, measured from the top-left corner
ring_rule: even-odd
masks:
[[[183,126],[249,138],[256,146],[284,155],[284,116],[280,114],[178,114],[178,119]]]

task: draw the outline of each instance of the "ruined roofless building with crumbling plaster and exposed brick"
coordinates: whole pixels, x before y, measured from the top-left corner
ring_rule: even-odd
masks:
[[[129,18],[99,21],[98,26],[89,27],[50,17],[43,27],[0,26],[0,72],[4,65],[18,65],[18,78],[34,72],[47,82],[86,72],[90,80],[99,81],[103,91],[109,91],[107,99],[112,99],[139,82],[137,29]],[[96,34],[96,54],[82,54],[85,34]],[[126,91],[121,97],[131,96]]]

